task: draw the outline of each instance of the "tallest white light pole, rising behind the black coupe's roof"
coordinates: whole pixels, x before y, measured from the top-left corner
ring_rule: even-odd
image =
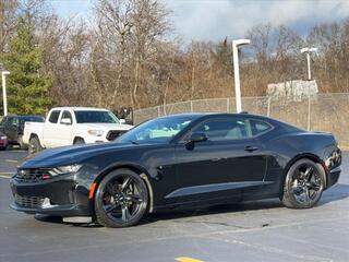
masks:
[[[250,39],[232,40],[232,58],[233,58],[233,80],[236,86],[236,104],[237,112],[241,112],[241,91],[240,91],[240,72],[239,72],[239,50],[238,48],[249,45]]]

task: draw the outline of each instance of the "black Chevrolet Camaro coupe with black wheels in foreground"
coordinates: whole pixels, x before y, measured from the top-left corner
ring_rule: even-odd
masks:
[[[45,151],[11,179],[11,207],[91,217],[125,227],[165,209],[279,198],[314,206],[337,182],[341,153],[330,133],[249,114],[149,120],[112,143]]]

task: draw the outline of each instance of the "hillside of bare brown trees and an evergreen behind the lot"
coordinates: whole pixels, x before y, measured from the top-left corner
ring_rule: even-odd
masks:
[[[233,96],[231,39],[183,45],[173,37],[170,13],[160,0],[95,0],[87,21],[59,17],[45,0],[1,0],[0,67],[11,71],[10,112]],[[306,35],[260,24],[245,37],[252,43],[240,53],[243,96],[305,79],[304,46],[318,48],[312,68],[320,91],[349,92],[349,19]]]

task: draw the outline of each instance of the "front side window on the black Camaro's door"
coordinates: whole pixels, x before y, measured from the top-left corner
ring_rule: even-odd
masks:
[[[252,138],[249,121],[243,118],[226,118],[206,121],[196,127],[193,132],[205,133],[209,141]]]

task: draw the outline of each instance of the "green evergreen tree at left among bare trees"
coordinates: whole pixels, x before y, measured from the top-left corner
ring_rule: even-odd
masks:
[[[52,76],[41,72],[43,48],[35,37],[35,25],[23,16],[3,56],[3,64],[11,72],[8,78],[9,112],[44,115],[51,104],[49,91]]]

